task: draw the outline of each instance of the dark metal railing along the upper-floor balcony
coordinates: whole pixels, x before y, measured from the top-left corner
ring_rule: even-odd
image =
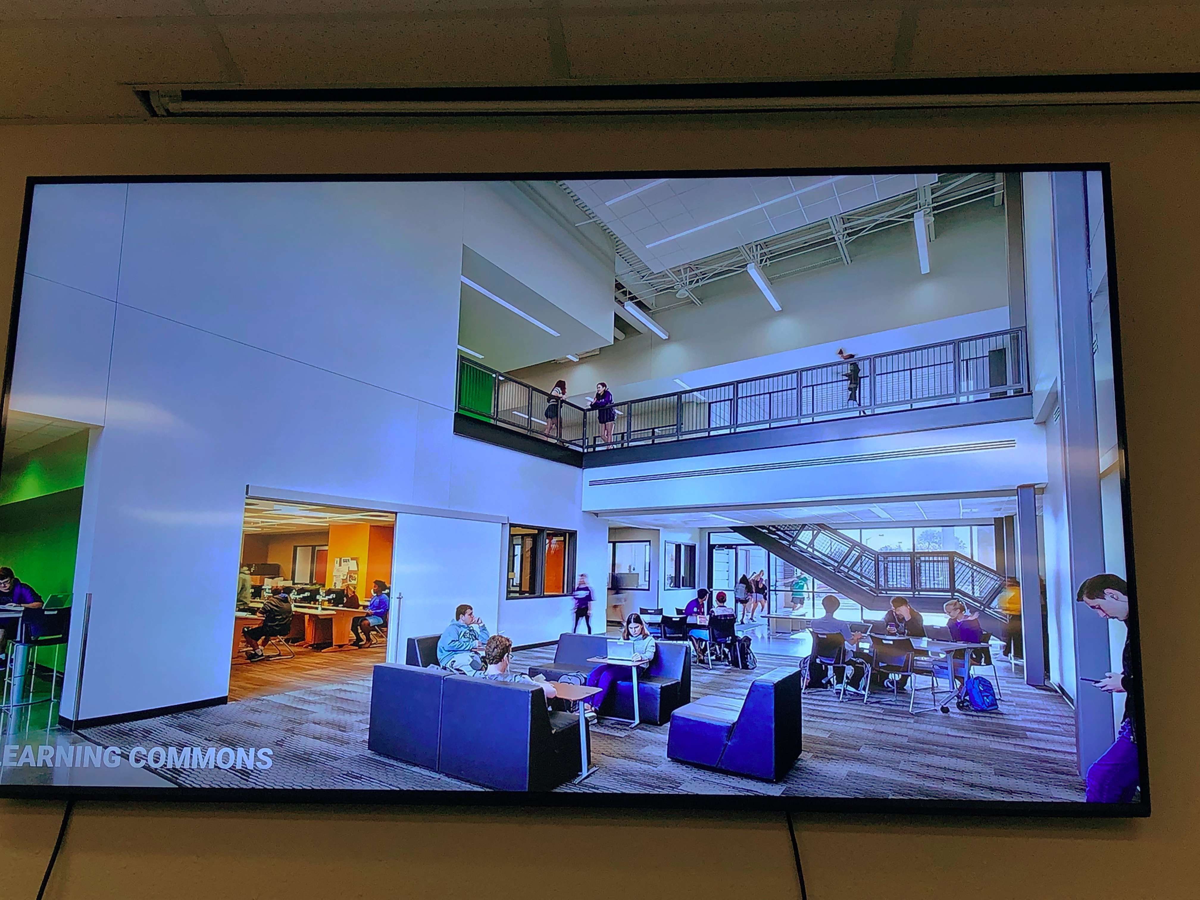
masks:
[[[658,444],[761,428],[967,403],[1030,391],[1025,329],[973,335],[616,404],[611,440],[599,412],[458,360],[458,410],[580,450]]]

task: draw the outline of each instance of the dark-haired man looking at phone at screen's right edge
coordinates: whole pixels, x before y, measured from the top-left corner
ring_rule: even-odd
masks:
[[[1079,586],[1075,600],[1087,604],[1102,619],[1129,623],[1133,608],[1129,588],[1117,575],[1093,575]],[[1133,653],[1126,632],[1124,649],[1121,650],[1121,671],[1108,672],[1104,678],[1081,678],[1105,694],[1124,694],[1126,709],[1117,738],[1112,745],[1087,769],[1088,803],[1132,803],[1138,792],[1140,767],[1138,763],[1138,724],[1141,709],[1138,706],[1139,674],[1134,670]]]

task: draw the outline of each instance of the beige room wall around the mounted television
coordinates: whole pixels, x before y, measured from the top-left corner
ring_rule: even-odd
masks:
[[[1200,456],[1200,418],[1188,391],[1165,389],[1195,380],[1200,346],[1196,146],[1195,108],[10,127],[0,128],[0,283],[12,283],[28,174],[1111,161],[1154,815],[806,815],[799,845],[814,898],[1192,898],[1200,695],[1188,686],[1190,656],[1162,650],[1196,626],[1195,545],[1180,526],[1195,518],[1200,496],[1200,474],[1186,462]],[[61,803],[0,802],[0,896],[35,895],[61,811]],[[631,883],[631,847],[640,896],[797,896],[779,814],[98,802],[79,804],[47,896],[448,899],[487,888],[521,900],[608,899]]]

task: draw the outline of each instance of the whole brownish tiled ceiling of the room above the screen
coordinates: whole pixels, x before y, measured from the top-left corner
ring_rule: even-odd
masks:
[[[1153,0],[5,0],[0,120],[149,118],[131,84],[564,84],[1200,70]],[[797,160],[803,164],[803,160]]]

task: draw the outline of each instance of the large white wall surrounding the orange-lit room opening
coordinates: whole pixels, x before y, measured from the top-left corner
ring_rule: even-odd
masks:
[[[536,522],[536,503],[518,503],[524,486],[557,490],[565,469],[574,518],[544,523],[577,527],[583,565],[604,569],[605,529],[578,511],[577,469],[522,457],[517,472],[452,437],[462,185],[131,185],[127,194],[37,188],[19,323],[14,408],[103,425],[89,451],[74,584],[76,596],[92,595],[88,671],[76,710],[77,617],[65,715],[224,696],[248,484],[458,502]],[[421,353],[403,352],[412,347]],[[349,439],[289,439],[296,409],[320,410]],[[491,545],[486,566],[439,577],[473,602],[491,590],[503,628],[498,528],[438,527],[448,546],[455,529],[478,553]],[[419,594],[397,547],[398,588]],[[565,619],[570,601],[560,602]],[[434,613],[444,626],[440,605]]]

